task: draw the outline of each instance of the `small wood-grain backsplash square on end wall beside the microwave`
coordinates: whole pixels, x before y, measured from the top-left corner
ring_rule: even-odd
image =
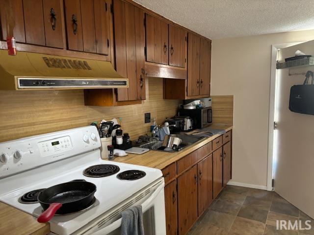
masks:
[[[233,125],[234,96],[213,95],[211,97],[212,122]]]

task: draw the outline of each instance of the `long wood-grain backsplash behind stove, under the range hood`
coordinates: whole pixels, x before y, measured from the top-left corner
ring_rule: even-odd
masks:
[[[89,125],[102,119],[121,118],[131,139],[150,130],[144,113],[162,124],[173,117],[181,100],[162,98],[162,78],[147,78],[143,104],[99,107],[85,106],[83,90],[0,91],[0,142]]]

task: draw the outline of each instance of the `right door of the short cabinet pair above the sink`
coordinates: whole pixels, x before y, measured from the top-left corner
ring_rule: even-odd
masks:
[[[169,24],[169,65],[185,68],[186,31]]]

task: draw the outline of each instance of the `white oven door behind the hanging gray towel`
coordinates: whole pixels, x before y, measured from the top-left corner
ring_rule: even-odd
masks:
[[[165,235],[166,219],[163,178],[134,194],[121,205],[116,206],[114,210],[105,213],[102,218],[96,219],[97,221],[93,224],[84,228],[80,233],[75,234],[121,235],[121,212],[137,205],[142,206],[144,233],[149,235]]]

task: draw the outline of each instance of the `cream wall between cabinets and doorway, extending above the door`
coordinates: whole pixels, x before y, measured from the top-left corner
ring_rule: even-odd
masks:
[[[233,182],[266,186],[271,45],[314,30],[212,41],[211,95],[234,95]]]

